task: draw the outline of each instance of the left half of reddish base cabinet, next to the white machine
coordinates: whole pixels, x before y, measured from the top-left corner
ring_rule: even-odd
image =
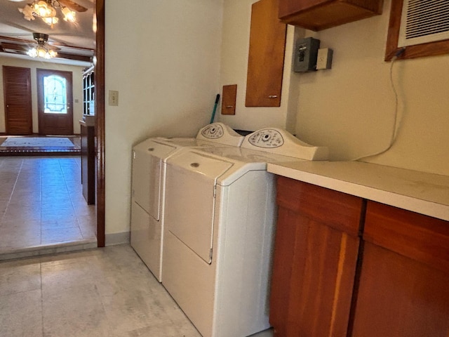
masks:
[[[274,336],[346,336],[362,200],[283,177],[277,200]]]

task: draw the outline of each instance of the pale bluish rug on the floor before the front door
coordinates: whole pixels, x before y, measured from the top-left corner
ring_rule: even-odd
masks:
[[[8,155],[48,155],[79,154],[79,145],[67,137],[8,137],[1,143],[0,154]]]

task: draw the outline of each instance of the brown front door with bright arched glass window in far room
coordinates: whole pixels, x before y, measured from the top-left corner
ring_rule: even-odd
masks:
[[[72,72],[37,70],[39,134],[72,135]]]

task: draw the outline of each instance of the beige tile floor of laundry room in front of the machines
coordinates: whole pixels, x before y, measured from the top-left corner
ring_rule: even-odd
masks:
[[[0,303],[0,336],[201,337],[129,245],[0,261]]]

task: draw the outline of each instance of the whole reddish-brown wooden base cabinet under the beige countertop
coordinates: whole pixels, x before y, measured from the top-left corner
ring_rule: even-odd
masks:
[[[278,178],[274,336],[447,337],[449,223]]]

